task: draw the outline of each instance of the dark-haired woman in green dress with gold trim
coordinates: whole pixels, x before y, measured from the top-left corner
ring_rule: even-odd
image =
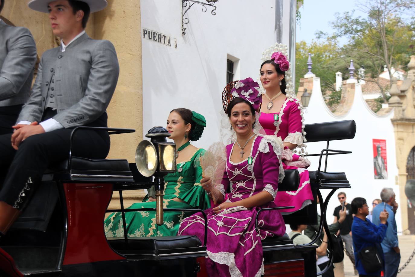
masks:
[[[210,208],[210,199],[200,184],[202,168],[200,156],[205,150],[190,144],[189,140],[198,140],[206,121],[203,115],[185,108],[174,109],[167,119],[167,130],[170,139],[176,143],[177,171],[168,174],[164,181],[164,208]],[[144,198],[142,203],[134,203],[129,208],[156,208],[156,199]],[[194,212],[164,212],[164,224],[156,225],[155,211],[126,212],[127,235],[129,237],[151,237],[176,235],[183,218]],[[107,237],[123,237],[121,213],[112,213],[105,220]]]

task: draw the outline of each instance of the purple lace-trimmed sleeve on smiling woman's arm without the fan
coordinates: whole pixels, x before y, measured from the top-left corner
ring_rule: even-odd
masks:
[[[282,170],[282,173],[280,170],[282,168],[281,154],[278,156],[278,153],[280,153],[281,150],[278,150],[278,148],[280,147],[278,147],[275,142],[266,137],[264,137],[259,144],[259,155],[261,159],[262,178],[264,184],[263,191],[268,191],[273,199],[275,199],[278,191],[278,182],[281,178],[281,174],[281,181],[284,178],[284,170]],[[280,172],[279,176],[275,174],[276,171]]]

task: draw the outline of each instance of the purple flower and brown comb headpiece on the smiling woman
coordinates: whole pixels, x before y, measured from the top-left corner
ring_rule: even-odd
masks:
[[[227,112],[227,107],[231,101],[236,97],[241,97],[251,103],[254,110],[259,110],[262,103],[262,93],[259,90],[258,82],[252,78],[246,78],[240,81],[229,83],[222,93],[223,109]]]

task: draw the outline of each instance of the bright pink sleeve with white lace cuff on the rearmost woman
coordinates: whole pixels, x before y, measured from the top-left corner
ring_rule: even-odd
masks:
[[[303,117],[299,109],[300,105],[295,100],[292,102],[288,112],[288,135],[284,142],[300,146],[303,144]]]

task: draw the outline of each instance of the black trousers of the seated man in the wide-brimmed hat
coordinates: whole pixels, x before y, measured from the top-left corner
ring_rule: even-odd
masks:
[[[43,120],[55,112],[46,113]],[[90,126],[106,127],[106,113]],[[16,151],[11,134],[0,135],[0,201],[22,210],[50,164],[68,158],[72,129],[59,129],[33,135],[20,143]],[[72,154],[76,157],[105,159],[110,150],[107,131],[78,130],[73,139]]]

